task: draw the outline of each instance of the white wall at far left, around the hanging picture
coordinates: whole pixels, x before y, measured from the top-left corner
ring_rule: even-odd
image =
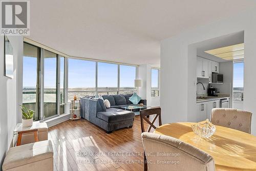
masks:
[[[13,137],[13,129],[17,121],[21,120],[19,110],[20,104],[20,58],[23,56],[23,37],[8,36],[14,51],[14,78],[4,76],[4,36],[0,36],[0,160],[3,164],[5,155]],[[22,59],[21,59],[22,60]],[[19,63],[19,65],[17,65]],[[22,65],[22,63],[21,63]],[[21,87],[20,87],[21,86]],[[18,93],[19,92],[19,93]],[[18,114],[18,115],[17,115]],[[1,167],[2,169],[2,167]]]

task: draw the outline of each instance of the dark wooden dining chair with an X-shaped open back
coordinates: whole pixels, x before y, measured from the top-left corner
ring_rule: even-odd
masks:
[[[150,121],[150,119],[148,119],[148,118],[150,118],[151,115],[156,115],[152,121]],[[156,129],[157,126],[154,123],[157,120],[157,118],[158,118],[158,125],[161,126],[162,120],[161,120],[161,108],[160,107],[145,109],[145,110],[140,111],[141,132],[142,133],[145,132],[144,120],[149,124],[146,132],[150,132],[152,127],[154,129]],[[146,161],[145,152],[144,152],[144,171],[147,171],[147,161]]]

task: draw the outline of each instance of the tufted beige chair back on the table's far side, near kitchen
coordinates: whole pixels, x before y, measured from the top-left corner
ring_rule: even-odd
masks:
[[[211,123],[234,130],[251,133],[252,113],[230,108],[215,108],[211,111]]]

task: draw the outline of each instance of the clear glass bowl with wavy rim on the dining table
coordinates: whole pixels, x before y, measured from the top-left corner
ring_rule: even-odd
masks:
[[[209,119],[191,125],[191,128],[201,138],[210,138],[216,131],[215,125],[210,123]]]

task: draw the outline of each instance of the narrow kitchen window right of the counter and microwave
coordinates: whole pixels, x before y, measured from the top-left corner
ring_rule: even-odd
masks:
[[[244,101],[244,62],[233,63],[233,108],[243,109]]]

